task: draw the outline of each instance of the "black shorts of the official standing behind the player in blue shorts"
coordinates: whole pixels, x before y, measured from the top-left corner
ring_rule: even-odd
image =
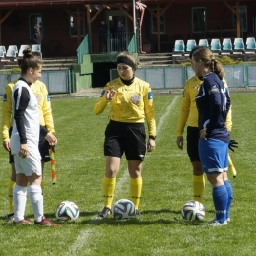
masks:
[[[200,161],[198,153],[199,129],[198,127],[187,127],[187,154],[190,161]]]

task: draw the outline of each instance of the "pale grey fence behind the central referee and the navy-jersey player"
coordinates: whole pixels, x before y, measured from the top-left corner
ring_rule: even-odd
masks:
[[[256,87],[256,65],[223,66],[229,88]],[[150,83],[152,89],[182,89],[187,79],[194,76],[191,66],[145,67],[136,76]],[[116,69],[110,70],[110,78],[118,77]]]

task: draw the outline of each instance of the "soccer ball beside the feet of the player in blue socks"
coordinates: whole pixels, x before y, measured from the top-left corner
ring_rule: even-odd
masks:
[[[181,208],[181,215],[185,220],[203,220],[205,208],[200,202],[190,200]]]

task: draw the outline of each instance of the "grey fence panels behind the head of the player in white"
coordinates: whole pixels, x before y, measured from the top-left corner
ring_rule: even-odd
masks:
[[[0,74],[0,95],[4,94],[6,84],[20,77],[20,73]],[[42,71],[40,78],[50,95],[52,94],[69,94],[72,92],[72,79],[69,70],[60,71]]]

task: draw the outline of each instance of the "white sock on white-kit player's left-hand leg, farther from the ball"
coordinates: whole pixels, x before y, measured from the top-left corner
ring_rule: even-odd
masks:
[[[27,201],[27,188],[18,186],[17,184],[13,189],[14,200],[14,221],[20,222],[24,219],[24,212]]]

